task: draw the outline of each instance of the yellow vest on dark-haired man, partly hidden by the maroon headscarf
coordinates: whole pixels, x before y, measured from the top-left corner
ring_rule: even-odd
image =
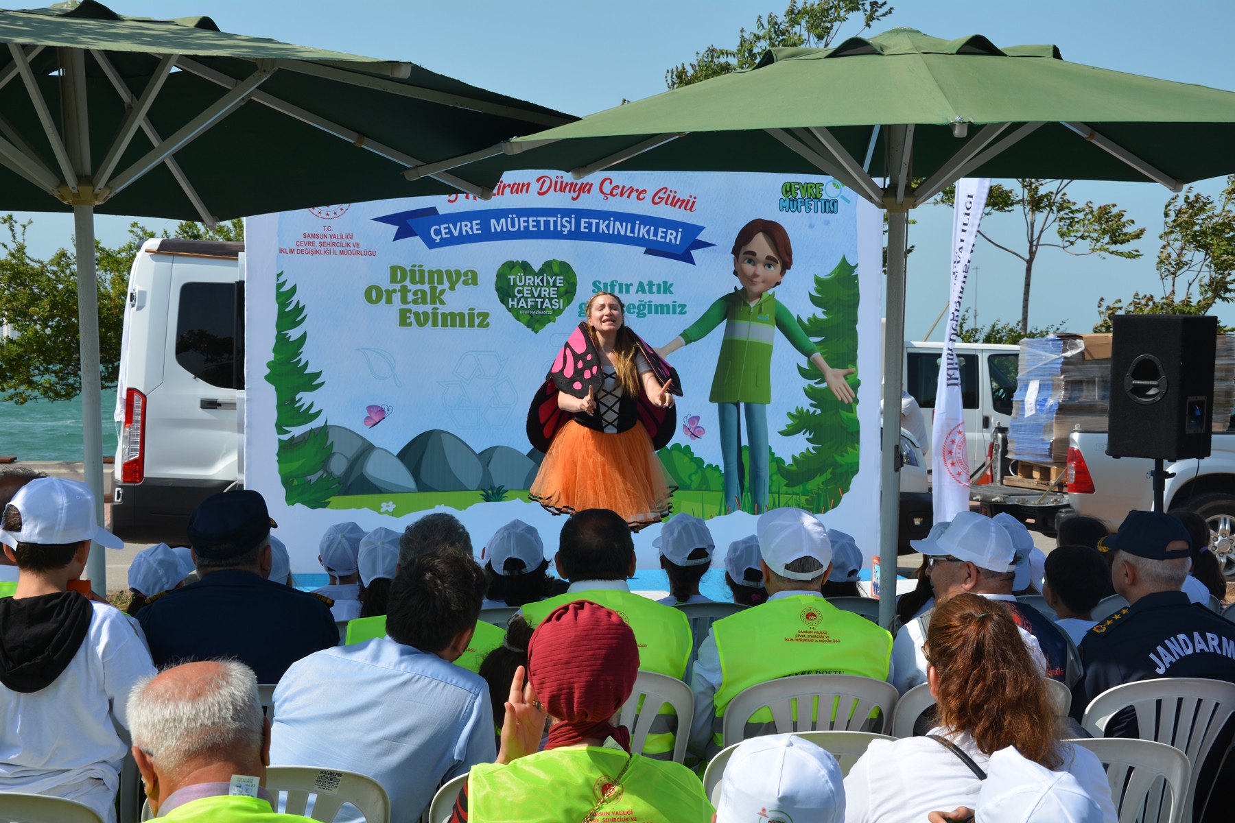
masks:
[[[694,649],[690,621],[682,611],[657,603],[642,595],[620,589],[589,589],[588,591],[558,595],[535,603],[525,603],[524,619],[527,621],[529,626],[538,626],[558,606],[578,600],[587,600],[611,608],[626,621],[626,624],[635,633],[635,643],[638,645],[640,669],[678,680],[685,676],[687,663]],[[688,718],[687,723],[689,722]],[[643,740],[643,754],[657,760],[672,760],[677,732],[677,712],[669,706],[662,706]]]

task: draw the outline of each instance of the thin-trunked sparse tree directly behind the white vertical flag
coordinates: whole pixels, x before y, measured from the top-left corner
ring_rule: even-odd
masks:
[[[1100,206],[1087,200],[1081,205],[1068,196],[1067,189],[1072,180],[1039,180],[1020,178],[1015,188],[998,183],[992,184],[987,195],[987,206],[982,212],[989,217],[994,212],[1008,213],[1020,211],[1025,222],[1024,250],[1009,248],[990,239],[984,231],[978,236],[998,249],[1008,252],[1025,265],[1025,287],[1020,297],[1020,333],[1029,333],[1029,291],[1034,279],[1034,264],[1044,248],[1057,248],[1074,257],[1110,254],[1125,259],[1141,257],[1140,250],[1125,248],[1139,241],[1144,228],[1134,228],[1136,221],[1128,217],[1123,209],[1108,202]],[[937,202],[956,205],[956,186],[948,186]],[[1053,233],[1052,233],[1053,230]]]

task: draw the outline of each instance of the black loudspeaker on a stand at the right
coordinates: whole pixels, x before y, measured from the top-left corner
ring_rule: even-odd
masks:
[[[1113,332],[1107,454],[1208,458],[1218,318],[1118,315]]]

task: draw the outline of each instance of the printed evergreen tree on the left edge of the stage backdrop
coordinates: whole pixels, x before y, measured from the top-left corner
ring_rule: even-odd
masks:
[[[311,428],[291,437],[291,431],[309,426],[321,416],[321,410],[301,397],[321,389],[321,371],[310,371],[304,359],[308,332],[293,338],[291,333],[305,322],[305,307],[295,300],[296,287],[289,286],[283,273],[275,275],[274,349],[266,364],[266,381],[274,386],[274,431],[279,438],[279,478],[289,506],[300,503],[309,508],[325,508],[338,494],[341,482],[324,471],[331,442],[326,426]]]

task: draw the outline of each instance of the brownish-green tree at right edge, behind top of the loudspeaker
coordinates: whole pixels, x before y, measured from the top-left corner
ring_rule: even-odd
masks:
[[[1126,304],[1098,300],[1095,332],[1109,332],[1115,315],[1207,315],[1235,301],[1235,175],[1216,199],[1188,186],[1162,209],[1157,274],[1162,294],[1134,292]]]

